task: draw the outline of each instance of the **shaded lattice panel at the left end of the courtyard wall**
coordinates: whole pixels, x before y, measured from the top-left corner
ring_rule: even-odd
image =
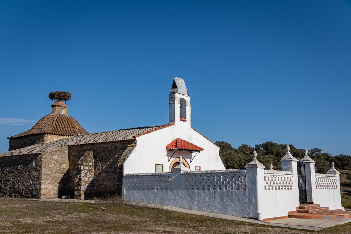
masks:
[[[124,186],[126,190],[173,190],[172,174],[155,174],[144,176],[126,176]]]

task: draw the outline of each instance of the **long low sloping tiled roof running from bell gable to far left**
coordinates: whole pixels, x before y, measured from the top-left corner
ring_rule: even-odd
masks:
[[[171,125],[173,124],[171,123],[166,125],[127,128],[127,129],[120,129],[120,130],[109,131],[109,132],[89,133],[84,135],[72,136],[70,138],[65,138],[51,143],[36,144],[36,145],[27,146],[20,149],[14,149],[13,151],[8,151],[0,154],[0,157],[24,155],[24,154],[38,154],[38,153],[50,151],[52,149],[57,149],[63,146],[86,145],[86,144],[94,144],[94,143],[132,140],[137,136],[154,132],[158,129],[166,128]]]

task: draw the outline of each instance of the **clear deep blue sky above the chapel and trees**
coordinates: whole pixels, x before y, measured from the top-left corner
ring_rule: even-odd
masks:
[[[350,1],[0,1],[0,152],[53,90],[88,132],[167,123],[179,77],[212,141],[350,155],[350,41]]]

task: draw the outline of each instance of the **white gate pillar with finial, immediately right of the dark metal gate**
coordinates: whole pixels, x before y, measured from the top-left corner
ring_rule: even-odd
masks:
[[[305,165],[307,202],[313,202],[313,194],[317,192],[316,175],[314,173],[314,163],[316,162],[308,156],[307,152],[308,151],[305,148],[305,156],[300,162]]]

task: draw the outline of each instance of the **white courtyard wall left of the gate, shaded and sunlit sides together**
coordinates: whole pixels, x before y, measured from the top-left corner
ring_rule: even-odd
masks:
[[[265,171],[265,172],[264,172]],[[125,201],[143,202],[257,219],[296,210],[293,174],[263,168],[125,174]],[[298,192],[297,192],[298,193]]]

